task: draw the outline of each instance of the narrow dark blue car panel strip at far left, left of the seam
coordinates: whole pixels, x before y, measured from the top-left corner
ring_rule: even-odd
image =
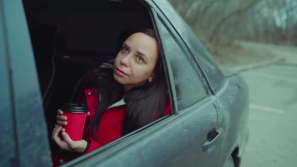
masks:
[[[8,56],[8,46],[7,46],[7,33],[5,27],[5,15],[3,12],[2,1],[0,0],[0,94],[6,101],[1,101],[0,113],[6,114],[6,116],[0,118],[0,122],[6,126],[1,126],[0,134],[2,140],[0,146],[2,150],[9,151],[2,152],[5,155],[1,155],[1,166],[18,166],[19,156],[18,148],[16,146],[16,126],[14,122],[15,112],[13,106],[13,96],[12,96],[12,85],[10,77],[10,64]],[[5,135],[5,136],[4,136]]]

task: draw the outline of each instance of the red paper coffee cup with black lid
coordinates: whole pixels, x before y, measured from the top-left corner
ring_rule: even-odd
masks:
[[[87,107],[81,104],[65,104],[61,110],[67,117],[67,125],[63,126],[65,132],[73,141],[82,140]]]

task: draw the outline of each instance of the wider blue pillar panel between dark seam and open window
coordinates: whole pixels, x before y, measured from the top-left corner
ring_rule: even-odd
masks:
[[[46,123],[23,4],[21,0],[13,3],[0,0],[0,3],[6,37],[6,63],[16,146],[15,164],[51,166]]]

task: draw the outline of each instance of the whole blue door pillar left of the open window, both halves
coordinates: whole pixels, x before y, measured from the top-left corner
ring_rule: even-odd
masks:
[[[21,0],[0,0],[0,16],[0,166],[49,167],[46,124]]]

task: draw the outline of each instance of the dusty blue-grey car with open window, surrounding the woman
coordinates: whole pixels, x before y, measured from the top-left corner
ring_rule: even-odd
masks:
[[[115,58],[123,32],[143,27],[161,41],[172,113],[61,165],[239,167],[248,86],[167,0],[0,0],[0,166],[52,166],[56,110]]]

